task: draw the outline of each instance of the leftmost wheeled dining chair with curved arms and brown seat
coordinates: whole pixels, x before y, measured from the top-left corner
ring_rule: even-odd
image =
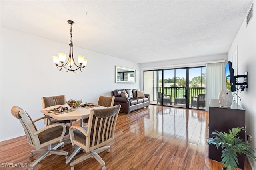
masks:
[[[13,106],[11,113],[14,117],[20,120],[20,123],[24,128],[28,144],[34,148],[29,157],[34,156],[35,153],[41,154],[29,165],[28,170],[33,170],[33,167],[38,162],[50,154],[65,155],[65,158],[68,158],[68,152],[57,150],[57,148],[63,144],[62,139],[64,136],[68,134],[64,123],[50,124],[38,130],[34,122],[41,119],[48,119],[50,123],[50,117],[44,116],[33,121],[28,113],[18,106]],[[52,146],[52,144],[56,142],[58,142],[58,144]],[[47,146],[47,148],[43,148],[44,146]]]

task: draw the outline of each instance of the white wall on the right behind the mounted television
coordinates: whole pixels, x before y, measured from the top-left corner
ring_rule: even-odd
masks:
[[[238,74],[248,71],[248,88],[239,93],[241,105],[246,110],[246,132],[252,134],[252,144],[256,146],[256,1],[254,0],[253,18],[246,26],[242,23],[234,42],[228,51],[228,60],[232,62],[233,52],[238,46]],[[234,67],[234,66],[233,66]],[[256,154],[255,154],[256,155]],[[252,161],[256,169],[256,162]]]

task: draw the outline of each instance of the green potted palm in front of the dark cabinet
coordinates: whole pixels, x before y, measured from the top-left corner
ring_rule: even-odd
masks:
[[[215,145],[216,149],[222,148],[222,164],[224,167],[222,170],[233,170],[237,169],[238,166],[238,154],[246,154],[254,161],[256,157],[250,152],[255,152],[256,148],[250,146],[239,137],[236,137],[240,131],[244,130],[244,127],[232,128],[229,130],[229,134],[224,132],[212,132],[215,135],[208,139],[207,144]]]

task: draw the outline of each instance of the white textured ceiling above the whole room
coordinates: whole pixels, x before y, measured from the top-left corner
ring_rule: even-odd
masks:
[[[148,63],[227,53],[251,4],[1,0],[1,26],[68,44],[73,20],[74,47]]]

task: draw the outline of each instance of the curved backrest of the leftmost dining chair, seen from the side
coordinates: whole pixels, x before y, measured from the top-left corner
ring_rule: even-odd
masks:
[[[11,109],[11,113],[14,117],[20,120],[20,123],[24,128],[26,138],[30,146],[32,146],[35,149],[41,148],[39,136],[34,135],[37,131],[36,126],[31,117],[28,115],[28,113],[26,113],[26,111],[24,111],[22,108],[18,106],[13,106]]]

